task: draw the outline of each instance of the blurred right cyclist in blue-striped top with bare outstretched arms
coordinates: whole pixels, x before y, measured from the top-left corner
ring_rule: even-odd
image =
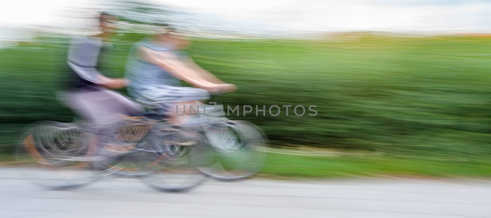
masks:
[[[187,57],[182,49],[189,41],[183,35],[167,26],[160,28],[162,33],[139,41],[130,51],[126,68],[129,93],[139,99],[177,105],[162,105],[169,121],[190,124],[189,116],[176,116],[177,113],[189,115],[189,108],[195,101],[208,99],[209,93],[235,91],[236,87],[224,83]],[[181,80],[193,87],[183,87]]]

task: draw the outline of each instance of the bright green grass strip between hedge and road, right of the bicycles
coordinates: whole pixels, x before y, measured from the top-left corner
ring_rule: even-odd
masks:
[[[426,159],[394,156],[313,157],[269,154],[260,176],[334,177],[490,177],[491,159]]]

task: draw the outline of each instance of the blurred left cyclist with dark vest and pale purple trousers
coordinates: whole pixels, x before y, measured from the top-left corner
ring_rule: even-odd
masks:
[[[108,13],[99,16],[101,33],[74,40],[68,51],[68,79],[64,101],[98,136],[100,144],[107,144],[105,128],[118,114],[138,113],[139,104],[109,89],[123,88],[124,78],[112,79],[102,75],[101,57],[111,48],[109,38],[115,30],[116,18]]]

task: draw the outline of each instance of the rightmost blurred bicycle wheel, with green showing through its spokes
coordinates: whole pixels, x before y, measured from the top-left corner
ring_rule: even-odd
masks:
[[[209,149],[201,153],[199,170],[223,180],[236,180],[259,172],[266,161],[266,137],[247,121],[226,121],[207,126]]]

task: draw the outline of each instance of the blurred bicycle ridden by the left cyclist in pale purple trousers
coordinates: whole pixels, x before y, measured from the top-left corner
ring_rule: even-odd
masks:
[[[132,127],[146,124],[140,121],[132,123]],[[115,175],[141,178],[160,191],[191,190],[204,179],[196,168],[194,152],[197,149],[179,145],[179,140],[188,140],[182,127],[165,124],[169,127],[166,134],[173,135],[173,144],[155,146],[155,141],[164,137],[159,137],[155,133],[157,128],[153,128],[145,131],[144,137],[133,135],[131,144],[130,141],[118,144],[118,148],[127,150],[117,150],[98,148],[95,137],[80,123],[37,123],[27,130],[17,146],[16,159],[22,167],[19,170],[31,182],[48,189],[77,188],[103,175]],[[164,123],[159,127],[164,127]],[[129,140],[130,137],[119,139]],[[148,139],[152,139],[152,143]],[[118,138],[113,140],[117,142]],[[93,161],[95,152],[101,151],[112,153],[112,157]]]

